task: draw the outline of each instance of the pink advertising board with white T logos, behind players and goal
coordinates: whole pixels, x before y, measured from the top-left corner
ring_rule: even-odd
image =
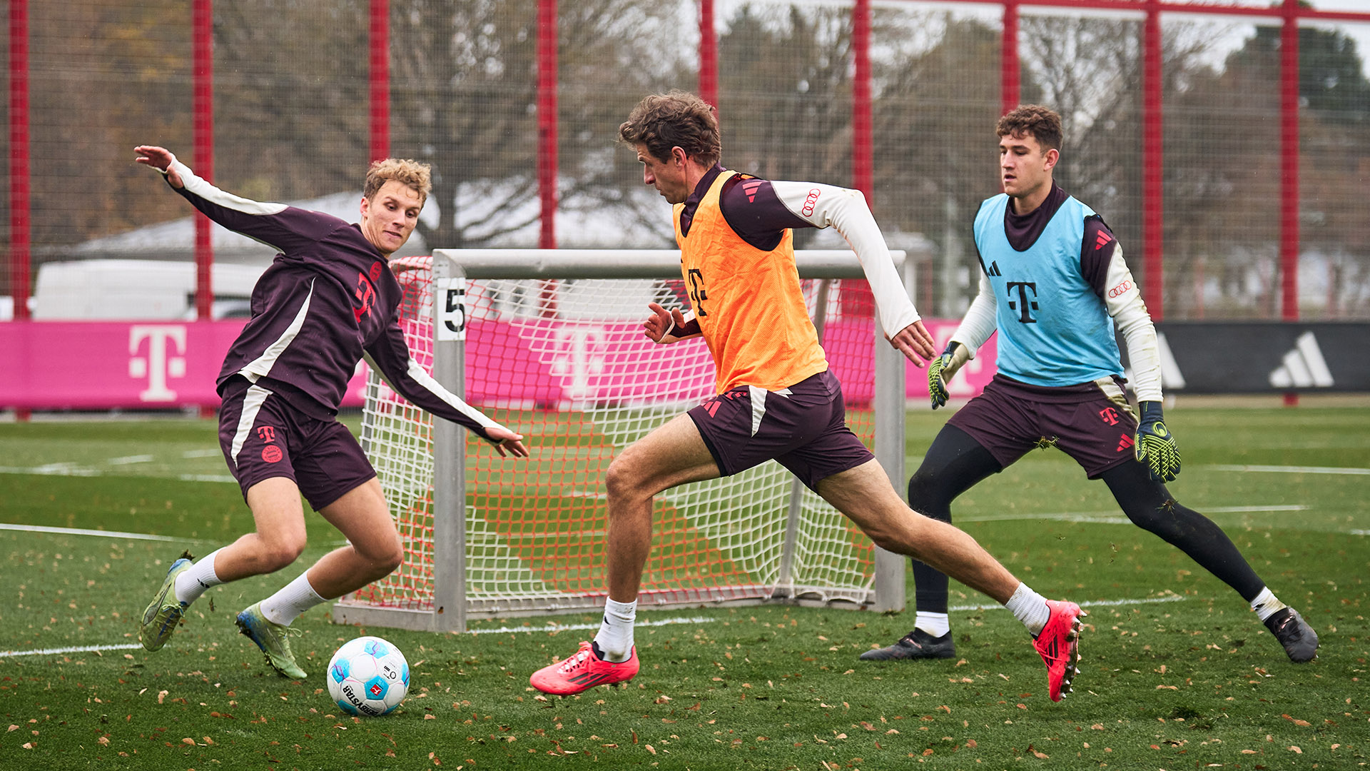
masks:
[[[637,324],[558,325],[551,350],[532,350],[527,339],[507,324],[473,325],[467,348],[467,398],[473,402],[562,403],[593,395],[606,399],[633,399],[659,390],[636,376],[633,346],[653,344],[641,336]],[[955,321],[926,320],[937,350],[956,328]],[[0,409],[159,409],[216,406],[214,380],[223,355],[242,329],[244,321],[121,322],[121,321],[14,321],[0,324]],[[825,335],[855,335],[869,339],[871,321],[830,325]],[[544,336],[545,339],[545,336]],[[712,383],[708,351],[697,346],[693,358],[682,362],[706,387]],[[612,351],[612,353],[611,353]],[[507,377],[490,366],[518,359],[525,372],[518,392]],[[995,339],[952,380],[955,398],[978,394],[993,376]],[[871,398],[869,358],[833,361],[851,405]],[[348,383],[345,406],[363,399],[364,366]],[[659,394],[658,394],[659,395]],[[907,365],[907,395],[927,398],[926,369]]]

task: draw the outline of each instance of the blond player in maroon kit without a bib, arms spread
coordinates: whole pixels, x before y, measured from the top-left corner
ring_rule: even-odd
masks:
[[[527,457],[522,436],[449,392],[410,357],[397,322],[403,291],[386,266],[404,246],[432,189],[429,167],[386,159],[366,176],[359,224],[258,203],[196,177],[162,147],[134,148],[137,162],[207,217],[281,251],[252,289],[252,318],[218,377],[219,446],[252,509],[256,532],[171,564],[142,615],[138,639],[166,645],[185,609],[207,589],[285,568],[304,550],[300,495],[347,536],[284,589],[238,613],[238,630],[278,674],[304,678],[289,645],[300,613],[390,575],[404,560],[375,469],[345,425],[338,403],[366,357],[390,387],[458,423],[501,455]]]

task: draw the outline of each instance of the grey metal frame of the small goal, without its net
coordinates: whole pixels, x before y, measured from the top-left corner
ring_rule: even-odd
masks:
[[[907,288],[904,252],[892,250],[895,268]],[[797,250],[800,278],[864,278],[856,255],[847,250]],[[433,377],[453,394],[466,395],[466,283],[482,278],[680,278],[678,250],[434,250],[432,280]],[[818,288],[814,324],[822,337],[827,284]],[[874,399],[877,416],[874,454],[897,491],[904,483],[904,357],[889,346],[874,324]],[[880,420],[878,416],[893,416]],[[363,447],[367,447],[363,432]],[[433,421],[433,602],[432,608],[393,608],[355,601],[344,595],[333,608],[342,624],[378,626],[415,631],[464,632],[470,619],[575,613],[603,606],[603,597],[573,605],[537,598],[482,600],[475,604],[466,589],[466,436],[445,420]],[[843,598],[814,601],[790,580],[801,483],[793,480],[786,512],[781,579],[771,597],[741,600],[699,598],[682,591],[680,598],[653,597],[643,608],[734,606],[762,604],[821,605],[870,610],[903,610],[906,557],[874,546],[873,586],[864,601]],[[670,593],[658,593],[670,594]]]

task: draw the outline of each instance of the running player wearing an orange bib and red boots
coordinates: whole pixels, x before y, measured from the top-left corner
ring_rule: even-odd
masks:
[[[723,169],[718,122],[710,106],[689,93],[645,97],[619,126],[619,139],[637,150],[643,181],[674,204],[690,299],[688,313],[649,303],[645,333],[662,344],[703,335],[718,368],[718,395],[610,464],[604,620],[593,642],[534,672],[532,685],[574,694],[632,679],[638,671],[633,620],[651,550],[652,498],[775,460],[878,546],[914,556],[1006,604],[1034,635],[1047,661],[1048,691],[1059,701],[1070,691],[1080,659],[1080,606],[1047,601],[971,536],[906,506],[847,428],[841,386],[804,306],[793,228],[837,229],[862,263],[891,344],[919,366],[934,354],[862,193]]]

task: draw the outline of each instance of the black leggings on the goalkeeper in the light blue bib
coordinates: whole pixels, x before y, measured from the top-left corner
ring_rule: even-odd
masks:
[[[908,479],[908,505],[929,517],[951,521],[951,502],[992,473],[1004,471],[999,461],[955,425],[943,425]],[[1265,582],[1237,546],[1212,520],[1181,506],[1166,486],[1154,482],[1147,466],[1125,462],[1101,475],[1128,519],[1159,535],[1188,554],[1201,568],[1237,590],[1247,602],[1255,600]],[[917,608],[929,613],[947,612],[947,576],[914,560]]]

